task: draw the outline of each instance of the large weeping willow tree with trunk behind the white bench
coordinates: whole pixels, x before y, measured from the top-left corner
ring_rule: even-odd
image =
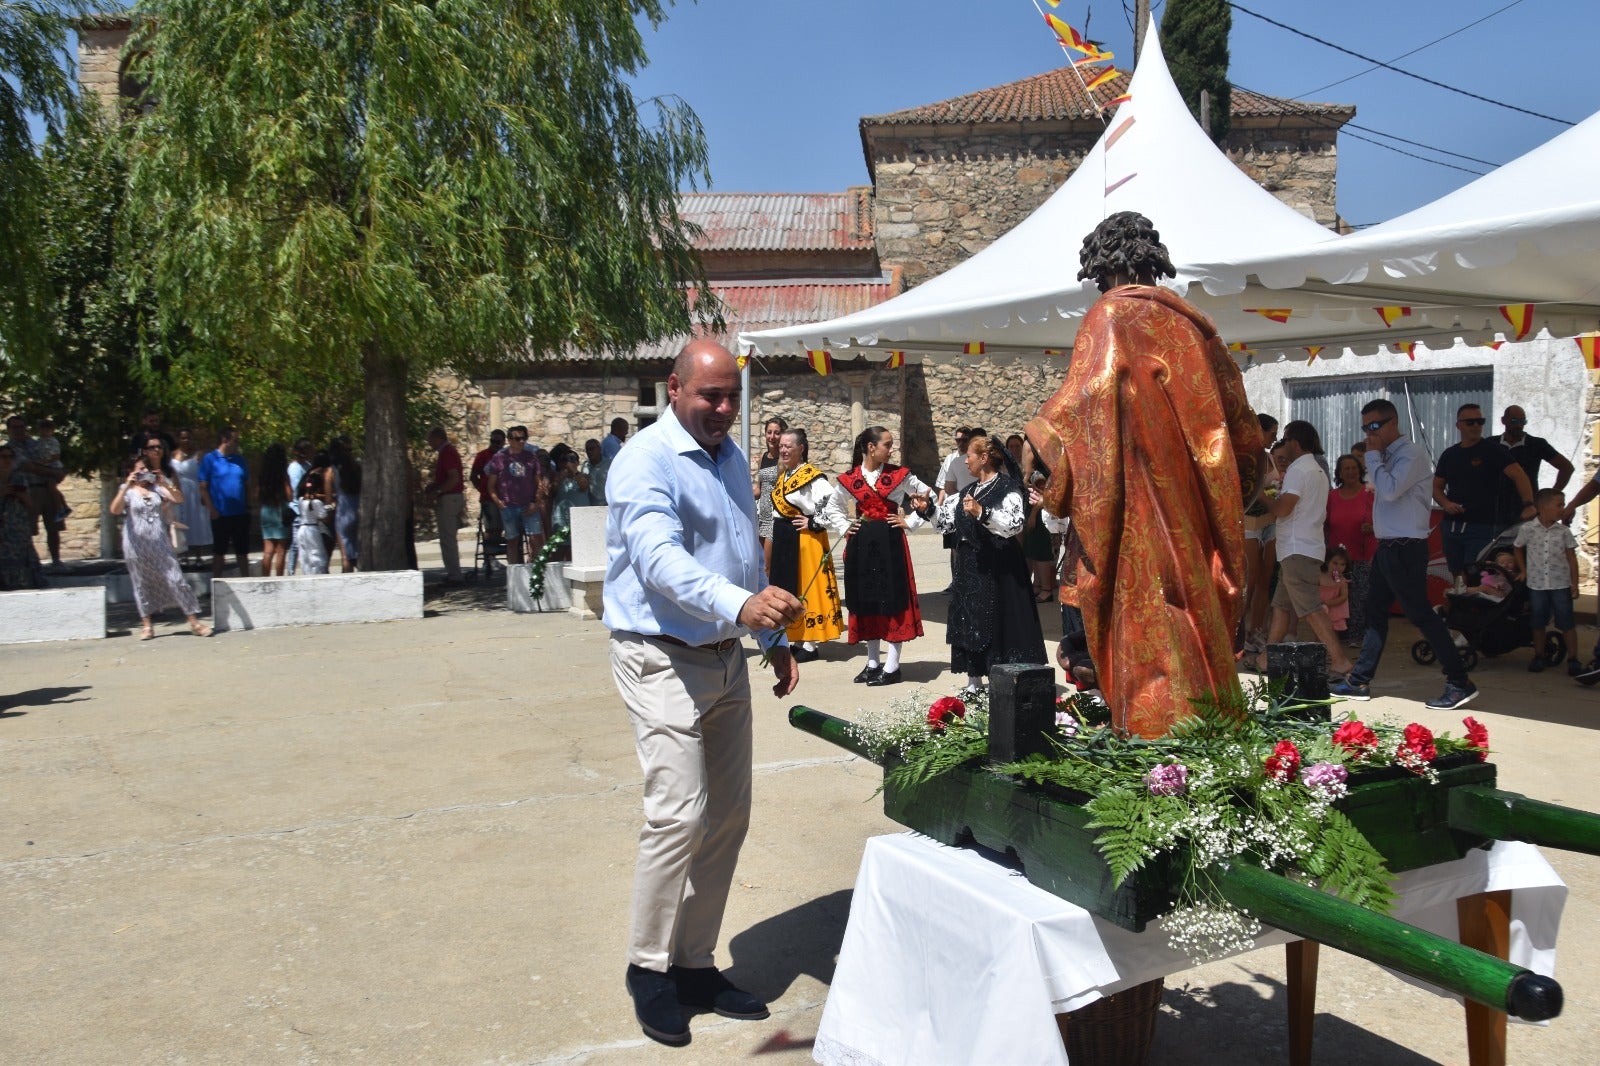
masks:
[[[405,565],[406,399],[714,307],[682,102],[635,101],[658,0],[150,0],[128,238],[189,387],[360,387],[363,567]]]

